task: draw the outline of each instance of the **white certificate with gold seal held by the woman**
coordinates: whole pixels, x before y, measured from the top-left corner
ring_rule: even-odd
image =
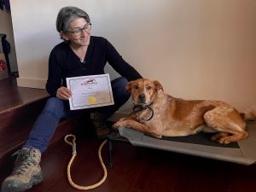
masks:
[[[113,105],[109,74],[67,78],[67,88],[73,94],[69,98],[71,110]]]

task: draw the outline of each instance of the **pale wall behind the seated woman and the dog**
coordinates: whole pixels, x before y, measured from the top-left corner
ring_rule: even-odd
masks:
[[[86,10],[93,34],[172,96],[240,110],[256,103],[253,0],[11,0],[20,86],[44,87],[49,51],[60,42],[55,17],[67,5]]]

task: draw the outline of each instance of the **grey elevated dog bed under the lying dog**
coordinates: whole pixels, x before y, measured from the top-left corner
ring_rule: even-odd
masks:
[[[158,139],[140,131],[119,127],[120,135],[127,138],[129,142],[135,146],[158,148],[248,166],[256,161],[256,122],[247,122],[247,132],[249,137],[246,139],[237,143],[224,145],[212,142],[210,140],[212,135],[209,133],[199,133],[187,137],[163,137]],[[110,144],[113,140],[115,140],[114,137],[109,137]]]

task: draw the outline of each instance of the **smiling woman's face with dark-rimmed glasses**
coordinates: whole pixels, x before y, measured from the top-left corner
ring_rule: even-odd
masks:
[[[63,38],[75,47],[88,46],[90,44],[90,26],[84,18],[73,20],[68,32],[63,34]]]

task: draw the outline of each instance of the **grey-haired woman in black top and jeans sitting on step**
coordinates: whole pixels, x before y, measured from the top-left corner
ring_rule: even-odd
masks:
[[[125,84],[142,78],[107,39],[91,36],[90,26],[90,17],[84,10],[75,7],[60,10],[56,29],[64,41],[57,44],[49,55],[46,90],[51,97],[33,125],[26,143],[17,152],[19,155],[14,172],[3,181],[3,192],[30,189],[32,185],[42,182],[39,166],[41,154],[47,148],[61,118],[94,112],[92,119],[98,134],[108,133],[102,120],[110,117],[129,99]],[[114,105],[71,111],[67,100],[72,92],[67,89],[66,78],[102,74],[107,62],[122,76],[111,82]]]

